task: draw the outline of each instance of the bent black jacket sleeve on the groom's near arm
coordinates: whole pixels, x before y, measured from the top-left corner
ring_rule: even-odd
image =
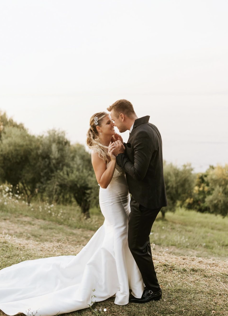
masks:
[[[143,180],[154,152],[154,143],[146,131],[139,131],[133,144],[134,162],[132,163],[125,154],[119,154],[116,162],[133,179]]]

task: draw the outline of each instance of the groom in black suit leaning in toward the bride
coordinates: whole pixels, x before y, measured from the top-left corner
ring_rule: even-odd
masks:
[[[118,100],[107,109],[120,133],[130,130],[127,143],[117,140],[114,155],[126,172],[130,201],[128,246],[139,267],[145,289],[141,298],[131,296],[130,302],[160,300],[151,254],[150,233],[157,214],[167,206],[163,177],[162,139],[157,127],[148,123],[150,116],[138,118],[131,102]]]

